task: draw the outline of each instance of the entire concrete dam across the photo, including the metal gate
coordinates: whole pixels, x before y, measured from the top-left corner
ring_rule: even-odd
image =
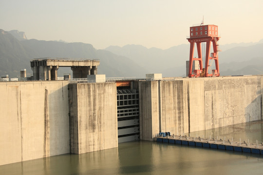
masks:
[[[0,165],[262,120],[262,94],[261,75],[0,82]]]

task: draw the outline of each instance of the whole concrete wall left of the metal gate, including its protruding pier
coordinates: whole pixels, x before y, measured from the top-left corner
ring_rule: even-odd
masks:
[[[118,146],[115,83],[0,82],[0,165]]]

